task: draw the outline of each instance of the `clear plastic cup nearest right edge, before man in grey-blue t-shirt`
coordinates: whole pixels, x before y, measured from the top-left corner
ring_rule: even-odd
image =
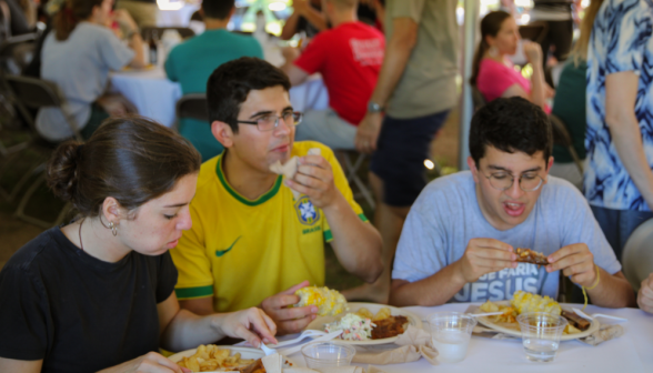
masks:
[[[518,322],[526,359],[540,363],[552,362],[566,320],[545,312],[528,312],[519,315]]]

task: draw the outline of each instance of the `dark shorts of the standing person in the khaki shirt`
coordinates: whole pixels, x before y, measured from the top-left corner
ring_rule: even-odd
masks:
[[[424,160],[448,115],[449,110],[414,119],[385,115],[370,164],[370,171],[383,180],[385,204],[410,206],[426,186]]]

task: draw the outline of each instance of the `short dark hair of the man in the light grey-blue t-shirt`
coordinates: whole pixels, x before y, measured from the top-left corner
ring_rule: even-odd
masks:
[[[544,153],[544,162],[553,149],[551,122],[544,111],[521,97],[496,99],[479,109],[470,129],[470,154],[479,167],[485,148],[492,145],[508,153]]]

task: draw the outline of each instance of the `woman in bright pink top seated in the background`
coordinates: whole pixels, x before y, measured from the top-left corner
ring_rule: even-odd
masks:
[[[519,95],[550,112],[546,99],[553,90],[544,82],[540,44],[523,42],[524,53],[533,67],[529,81],[506,58],[516,53],[520,40],[519,28],[512,16],[504,11],[488,13],[481,21],[481,37],[470,83],[481,91],[485,101]]]

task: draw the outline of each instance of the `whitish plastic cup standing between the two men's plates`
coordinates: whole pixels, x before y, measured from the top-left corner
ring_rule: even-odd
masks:
[[[438,361],[458,363],[465,359],[476,320],[459,312],[439,312],[429,316],[431,339]]]

